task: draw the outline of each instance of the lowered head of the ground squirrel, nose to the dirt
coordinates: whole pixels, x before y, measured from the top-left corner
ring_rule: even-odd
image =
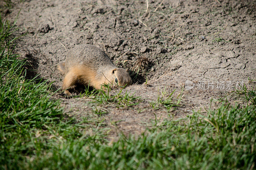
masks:
[[[119,86],[132,85],[132,78],[128,71],[123,68],[112,69],[109,77],[111,77],[109,81],[112,84]]]

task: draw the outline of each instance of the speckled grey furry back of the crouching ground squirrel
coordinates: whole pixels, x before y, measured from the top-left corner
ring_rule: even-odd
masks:
[[[89,44],[76,45],[67,53],[65,72],[74,65],[84,65],[95,71],[99,68],[115,67],[111,59],[100,48]]]

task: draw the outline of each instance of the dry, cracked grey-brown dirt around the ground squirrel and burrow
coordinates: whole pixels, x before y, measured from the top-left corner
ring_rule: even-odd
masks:
[[[236,0],[25,0],[13,1],[2,13],[11,21],[19,13],[18,34],[25,35],[16,52],[30,64],[28,77],[39,73],[60,88],[63,76],[56,65],[76,44],[95,45],[130,70],[134,84],[124,92],[135,92],[140,104],[98,106],[107,109],[103,124],[115,137],[120,131],[140,134],[155,118],[186,117],[208,108],[211,99],[240,84],[255,89],[255,9],[256,1]],[[166,96],[175,90],[174,102],[182,96],[180,107],[150,106],[164,89]],[[86,97],[55,97],[77,120],[97,116]]]

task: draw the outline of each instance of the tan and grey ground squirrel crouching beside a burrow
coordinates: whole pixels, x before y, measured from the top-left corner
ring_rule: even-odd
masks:
[[[100,89],[103,84],[132,84],[132,78],[127,70],[117,68],[112,60],[100,48],[93,45],[76,45],[67,55],[64,63],[58,64],[58,69],[64,74],[62,89],[67,90],[76,83],[90,85]]]

